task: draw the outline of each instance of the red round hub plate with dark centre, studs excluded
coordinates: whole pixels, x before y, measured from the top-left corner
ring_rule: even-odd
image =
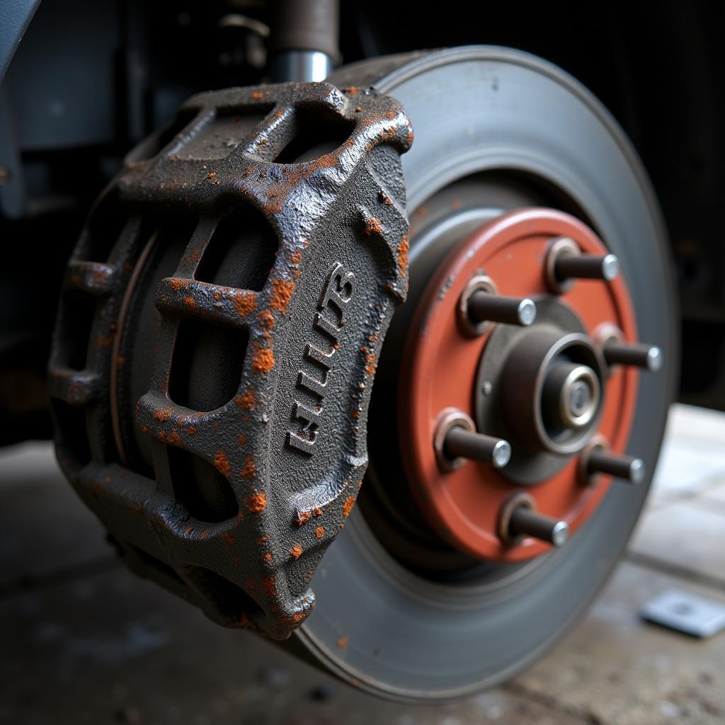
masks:
[[[637,370],[607,365],[604,356],[599,357],[613,334],[624,342],[637,339],[626,285],[618,276],[611,281],[579,278],[557,286],[551,250],[554,244],[560,247],[561,240],[584,255],[608,253],[587,225],[555,210],[518,210],[486,223],[458,245],[431,278],[405,344],[399,430],[405,431],[400,444],[407,478],[439,536],[476,558],[515,562],[550,549],[549,543],[533,536],[507,535],[512,502],[564,521],[569,531],[576,531],[595,512],[612,481],[608,475],[588,476],[583,457],[595,444],[621,454],[629,439]],[[461,301],[477,276],[492,281],[500,297],[532,299],[539,310],[537,321],[526,328],[484,324],[477,331],[462,325]],[[599,381],[589,376],[593,391],[600,386],[599,402],[596,415],[579,428],[579,423],[571,430],[561,428],[563,433],[556,428],[554,441],[571,441],[556,448],[554,442],[537,439],[541,421],[558,415],[558,410],[549,409],[561,398],[552,402],[542,392],[537,350],[543,350],[542,360],[563,355],[562,365],[568,370],[578,361],[569,355],[572,344],[595,360],[595,371],[596,361],[602,361]],[[488,370],[499,372],[488,379]],[[479,434],[510,441],[510,470],[475,460],[442,463],[436,434],[440,437],[440,421],[450,417],[451,410],[468,416]],[[529,418],[533,432],[526,428]],[[463,465],[456,468],[457,463]]]

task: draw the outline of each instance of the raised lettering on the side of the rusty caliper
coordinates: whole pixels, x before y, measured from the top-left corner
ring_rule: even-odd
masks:
[[[320,415],[324,410],[325,395],[330,381],[332,360],[340,347],[340,332],[345,325],[345,311],[355,294],[355,274],[336,262],[318,302],[318,312],[312,328],[318,331],[320,347],[308,342],[305,347],[305,369],[297,373],[295,389],[317,399],[315,407],[292,402],[291,418],[295,428],[287,431],[286,444],[292,450],[311,456],[315,452]],[[322,349],[320,349],[322,348]]]

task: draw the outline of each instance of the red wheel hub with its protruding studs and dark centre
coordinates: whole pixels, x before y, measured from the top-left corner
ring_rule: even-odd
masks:
[[[608,341],[637,340],[617,272],[587,225],[531,208],[484,223],[426,286],[401,366],[402,455],[428,522],[458,550],[535,558],[612,484],[587,457],[597,436],[624,460],[637,400],[637,370],[607,360]]]

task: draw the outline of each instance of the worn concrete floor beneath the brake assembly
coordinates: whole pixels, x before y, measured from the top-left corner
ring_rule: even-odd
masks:
[[[723,725],[725,634],[639,619],[668,587],[725,602],[725,415],[673,408],[629,554],[566,642],[437,708],[378,702],[136,579],[25,444],[0,457],[0,723]]]

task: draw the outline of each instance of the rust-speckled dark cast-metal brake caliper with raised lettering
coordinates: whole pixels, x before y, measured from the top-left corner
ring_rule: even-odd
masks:
[[[130,566],[276,639],[355,503],[407,292],[402,107],[328,83],[194,96],[101,196],[49,387],[60,463]]]

